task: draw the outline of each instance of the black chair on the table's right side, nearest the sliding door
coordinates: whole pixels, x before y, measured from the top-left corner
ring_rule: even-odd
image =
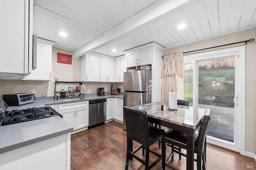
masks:
[[[201,170],[202,168],[203,168],[203,170],[205,170],[204,148],[205,148],[206,131],[207,131],[210,119],[211,119],[211,115],[212,115],[212,111],[210,109],[207,109],[205,111],[204,116],[202,117],[199,133],[195,133],[194,152],[196,153],[196,159],[194,159],[194,160],[197,162],[198,170]],[[179,147],[182,149],[187,149],[186,140],[187,140],[186,133],[175,131],[173,129],[170,129],[164,135],[164,137],[162,139],[162,155],[163,155],[162,168],[163,169],[165,169],[166,166],[171,168],[171,166],[167,162],[168,162],[168,159],[170,158],[170,156],[172,156],[172,161],[173,161],[174,152],[186,157],[186,154],[180,152],[179,150],[173,149],[173,147],[172,147],[172,153],[168,157],[168,159],[166,159],[166,144],[168,143],[172,146],[176,146],[176,147]]]

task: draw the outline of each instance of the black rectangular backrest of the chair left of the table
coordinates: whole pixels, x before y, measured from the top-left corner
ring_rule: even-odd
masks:
[[[127,137],[149,147],[148,115],[144,110],[124,106]]]

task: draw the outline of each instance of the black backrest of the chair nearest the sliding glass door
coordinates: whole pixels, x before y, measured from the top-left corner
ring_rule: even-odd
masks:
[[[211,120],[211,117],[212,117],[212,110],[206,109],[204,116],[202,117],[198,137],[195,142],[195,145],[197,148],[197,154],[200,154],[200,155],[203,154],[206,131],[207,131],[209,122]]]

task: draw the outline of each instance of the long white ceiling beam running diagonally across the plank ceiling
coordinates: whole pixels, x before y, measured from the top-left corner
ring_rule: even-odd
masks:
[[[76,49],[74,51],[74,57],[81,57],[86,53],[90,53],[91,51],[104,47],[105,45],[126,36],[132,31],[145,27],[146,25],[168,15],[174,14],[175,12],[178,12],[179,10],[182,10],[183,8],[186,8],[198,1],[200,0],[160,0],[132,18],[124,21],[112,30],[94,39],[90,43]]]

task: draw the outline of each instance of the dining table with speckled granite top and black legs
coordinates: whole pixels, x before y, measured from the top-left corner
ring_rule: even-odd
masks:
[[[152,102],[132,108],[147,112],[148,121],[187,134],[186,169],[194,170],[194,134],[197,131],[206,108],[178,105],[177,109],[161,110],[160,102]],[[163,160],[164,161],[164,160]],[[177,169],[176,167],[172,166]]]

